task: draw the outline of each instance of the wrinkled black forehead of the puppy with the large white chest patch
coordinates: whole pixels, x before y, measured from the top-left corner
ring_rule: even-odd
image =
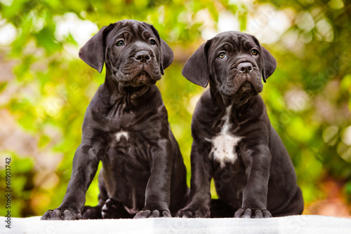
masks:
[[[211,51],[216,50],[250,50],[253,47],[258,47],[257,39],[249,34],[242,32],[223,32],[213,37]]]

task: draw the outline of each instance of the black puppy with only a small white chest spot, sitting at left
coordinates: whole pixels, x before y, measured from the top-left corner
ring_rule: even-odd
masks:
[[[106,78],[91,100],[65,198],[41,219],[171,216],[187,203],[186,169],[154,83],[173,51],[152,25],[122,20],[102,27],[79,57]],[[99,203],[84,207],[99,161]]]

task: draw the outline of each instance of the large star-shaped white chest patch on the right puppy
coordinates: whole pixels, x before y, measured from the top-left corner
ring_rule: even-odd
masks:
[[[237,146],[242,139],[242,137],[231,135],[230,132],[228,132],[230,128],[229,120],[231,112],[232,106],[228,106],[225,110],[225,116],[223,116],[225,123],[220,133],[216,137],[213,137],[213,139],[206,139],[208,142],[212,143],[209,156],[213,156],[213,159],[220,163],[220,167],[224,167],[225,163],[235,163],[238,157],[235,152],[235,146]]]

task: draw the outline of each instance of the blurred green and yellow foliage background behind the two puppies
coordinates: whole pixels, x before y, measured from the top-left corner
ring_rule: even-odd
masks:
[[[174,51],[157,85],[188,181],[191,116],[204,88],[180,72],[201,43],[237,30],[255,35],[277,59],[261,95],[296,167],[304,214],[350,217],[349,0],[0,0],[1,215],[5,158],[11,158],[12,216],[60,205],[84,112],[105,79],[105,71],[79,60],[79,48],[101,27],[130,18],[154,25]],[[86,204],[96,205],[97,196],[95,178]]]

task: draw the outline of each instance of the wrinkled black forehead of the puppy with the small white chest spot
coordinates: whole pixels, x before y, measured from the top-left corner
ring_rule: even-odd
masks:
[[[107,35],[107,46],[116,43],[118,39],[147,40],[150,36],[156,36],[150,25],[136,20],[121,20],[114,23],[114,28]]]

